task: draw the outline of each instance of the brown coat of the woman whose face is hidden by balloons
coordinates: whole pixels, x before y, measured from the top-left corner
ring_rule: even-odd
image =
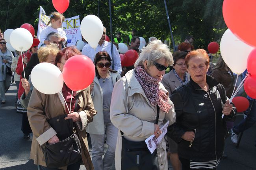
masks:
[[[93,170],[85,131],[88,122],[93,121],[93,116],[96,114],[89,90],[90,87],[85,90],[76,91],[79,106],[77,112],[81,118],[81,122],[76,122],[76,134],[82,144],[83,164],[87,170]],[[35,88],[33,89],[28,104],[28,120],[33,131],[30,158],[34,160],[34,164],[46,166],[44,157],[45,143],[57,134],[48,124],[47,120],[63,114],[67,113],[65,112],[64,99],[60,97],[59,93],[46,95]],[[66,168],[62,167],[61,169]]]

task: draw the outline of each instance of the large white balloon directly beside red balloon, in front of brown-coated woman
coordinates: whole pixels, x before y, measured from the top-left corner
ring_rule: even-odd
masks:
[[[63,87],[61,71],[54,64],[48,62],[37,64],[32,69],[30,78],[35,89],[44,94],[59,93]]]

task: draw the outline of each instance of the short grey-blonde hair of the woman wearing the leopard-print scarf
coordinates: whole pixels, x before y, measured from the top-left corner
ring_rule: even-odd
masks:
[[[154,40],[148,44],[139,55],[134,67],[142,66],[146,60],[147,66],[150,67],[159,59],[165,59],[168,65],[173,65],[173,55],[167,45],[160,43],[160,40]]]

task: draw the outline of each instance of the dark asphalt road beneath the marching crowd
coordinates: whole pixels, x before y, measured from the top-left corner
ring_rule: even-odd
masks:
[[[22,115],[14,107],[16,92],[15,84],[11,84],[6,104],[0,104],[0,170],[37,170],[29,159],[31,140],[24,140],[20,130]],[[236,122],[241,119],[242,115],[238,115]],[[228,138],[225,146],[228,158],[222,159],[217,169],[256,170],[255,140],[256,125],[244,133],[239,149]],[[85,170],[84,166],[80,170]]]

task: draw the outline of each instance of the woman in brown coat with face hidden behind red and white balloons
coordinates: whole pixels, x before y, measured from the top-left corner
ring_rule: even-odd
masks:
[[[63,49],[63,51],[59,51],[55,61],[56,65],[62,71],[65,62],[77,54],[80,54],[80,51],[74,47],[68,47]],[[79,170],[80,164],[83,163],[87,170],[93,170],[85,131],[85,127],[89,122],[93,121],[93,116],[96,114],[90,95],[90,87],[75,91],[74,95],[71,95],[70,89],[64,84],[61,92],[68,106],[70,105],[70,98],[72,97],[73,99],[72,113],[65,119],[72,119],[73,122],[76,122],[76,134],[82,147],[82,160],[66,167],[59,167],[59,169]],[[75,104],[76,100],[77,106]],[[34,164],[40,166],[41,170],[48,170],[44,156],[45,143],[53,144],[59,142],[57,133],[50,126],[48,120],[59,115],[66,115],[68,113],[67,109],[64,99],[59,93],[46,95],[35,88],[33,89],[28,104],[28,120],[33,131],[30,158],[34,160]],[[50,168],[50,170],[54,169]]]

